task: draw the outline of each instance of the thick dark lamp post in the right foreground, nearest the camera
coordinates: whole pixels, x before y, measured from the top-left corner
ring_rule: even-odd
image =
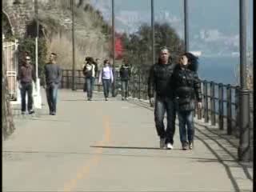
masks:
[[[239,128],[240,140],[238,160],[250,161],[250,94],[246,88],[246,6],[247,0],[239,0],[240,37],[240,90],[239,90]]]

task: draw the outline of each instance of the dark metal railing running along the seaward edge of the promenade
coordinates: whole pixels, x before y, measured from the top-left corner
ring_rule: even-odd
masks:
[[[129,82],[129,94],[132,98],[148,99],[147,96],[147,74],[140,72],[133,73]],[[121,94],[121,82],[118,72],[115,73],[115,95]],[[85,78],[82,70],[75,71],[75,87],[82,90]],[[209,82],[202,83],[202,109],[196,109],[194,116],[198,119],[204,118],[204,122],[218,127],[220,130],[226,130],[226,134],[239,137],[239,86],[224,85],[222,83]],[[72,70],[62,70],[61,87],[64,89],[72,88]],[[98,78],[95,79],[94,90],[102,91],[102,84],[98,84]],[[253,134],[253,91],[250,93],[250,132]]]

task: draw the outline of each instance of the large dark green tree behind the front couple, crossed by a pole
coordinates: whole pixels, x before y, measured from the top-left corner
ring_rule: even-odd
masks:
[[[169,24],[155,23],[155,55],[161,46],[170,48],[171,57],[174,62],[178,55],[184,51],[184,42],[178,37]],[[138,70],[148,70],[152,64],[152,47],[151,47],[151,27],[147,24],[140,26],[134,34],[122,34],[122,44],[124,46],[124,55]],[[156,59],[158,59],[156,57]],[[155,61],[156,62],[156,61]]]

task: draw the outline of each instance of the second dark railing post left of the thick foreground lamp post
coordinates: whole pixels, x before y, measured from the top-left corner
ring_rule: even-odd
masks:
[[[226,132],[232,134],[232,108],[231,108],[231,86],[230,84],[226,87]]]

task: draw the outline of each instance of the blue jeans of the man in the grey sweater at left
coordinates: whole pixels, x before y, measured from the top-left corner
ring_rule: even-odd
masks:
[[[57,96],[58,96],[58,84],[51,83],[50,85],[47,85],[46,98],[47,98],[50,112],[56,113]]]

